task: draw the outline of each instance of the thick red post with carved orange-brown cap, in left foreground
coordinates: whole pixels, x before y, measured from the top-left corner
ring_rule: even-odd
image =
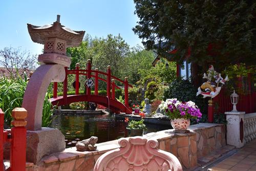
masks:
[[[12,110],[12,129],[11,129],[11,155],[10,167],[11,171],[26,170],[26,138],[27,130],[27,110],[24,108],[15,108]]]

